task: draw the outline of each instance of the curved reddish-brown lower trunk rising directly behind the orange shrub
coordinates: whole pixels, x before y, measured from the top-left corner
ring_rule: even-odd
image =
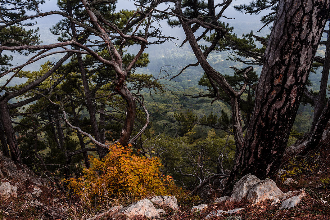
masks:
[[[131,133],[133,131],[134,126],[134,120],[135,120],[135,99],[133,95],[130,93],[130,91],[127,89],[127,86],[125,84],[121,84],[121,86],[116,87],[117,92],[119,95],[125,100],[127,104],[127,110],[126,110],[126,119],[123,125],[123,128],[120,133],[119,142],[126,146],[129,142],[129,137],[131,136]]]

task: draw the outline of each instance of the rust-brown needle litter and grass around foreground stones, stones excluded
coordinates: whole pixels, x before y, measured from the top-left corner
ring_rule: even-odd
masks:
[[[239,203],[221,202],[212,203],[220,194],[214,194],[212,199],[197,200],[196,197],[176,195],[180,211],[175,212],[167,207],[163,208],[167,214],[162,215],[166,220],[198,220],[204,219],[211,211],[231,210],[234,208],[244,208],[231,216],[211,217],[210,219],[330,219],[330,149],[324,147],[319,153],[312,152],[308,157],[298,157],[291,159],[282,169],[285,174],[278,176],[275,180],[277,186],[285,193],[289,190],[306,189],[307,196],[302,202],[293,208],[281,210],[279,206],[264,202],[257,205],[251,205],[247,200]],[[293,178],[297,183],[284,185],[286,178]],[[43,186],[40,187],[42,194],[36,200],[29,199],[26,192],[32,190],[33,185],[26,181],[18,188],[17,198],[0,200],[0,219],[87,219],[94,216],[102,210],[118,203],[118,200],[109,201],[108,204],[99,206],[82,205],[75,198],[68,198],[68,192],[59,190],[59,187]],[[188,194],[187,194],[188,195]],[[123,200],[122,200],[123,201]],[[135,201],[126,201],[125,204]],[[202,212],[191,212],[194,205],[208,204],[208,208]],[[118,204],[116,204],[118,205]],[[124,204],[123,204],[124,205]],[[156,206],[155,206],[156,207]],[[159,207],[156,207],[159,208]],[[112,219],[112,216],[104,216],[101,219]],[[124,220],[126,218],[116,218]],[[144,220],[144,217],[134,217],[131,220]]]

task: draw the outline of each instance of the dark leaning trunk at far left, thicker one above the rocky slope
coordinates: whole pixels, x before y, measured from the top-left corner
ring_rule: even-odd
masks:
[[[7,143],[9,145],[12,160],[16,164],[22,164],[22,158],[18,148],[15,131],[9,114],[9,109],[7,107],[7,99],[4,99],[0,102],[0,111],[1,111],[0,120],[3,124],[3,128],[7,137]]]

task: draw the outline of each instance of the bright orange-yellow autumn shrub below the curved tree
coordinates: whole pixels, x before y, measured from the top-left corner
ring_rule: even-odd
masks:
[[[86,202],[121,195],[167,195],[167,189],[175,188],[172,179],[161,176],[158,159],[136,155],[121,144],[111,145],[103,160],[91,157],[90,164],[91,168],[85,168],[81,177],[67,180],[68,187]]]

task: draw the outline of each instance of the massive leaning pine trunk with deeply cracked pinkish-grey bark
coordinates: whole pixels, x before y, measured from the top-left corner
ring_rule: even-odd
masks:
[[[280,0],[254,110],[224,194],[247,173],[264,179],[278,171],[329,6],[329,0]]]

